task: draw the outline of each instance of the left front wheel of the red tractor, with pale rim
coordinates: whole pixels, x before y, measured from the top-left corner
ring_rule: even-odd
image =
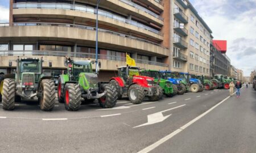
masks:
[[[131,103],[133,104],[141,104],[144,99],[145,93],[143,88],[138,84],[133,84],[128,89],[128,97]]]

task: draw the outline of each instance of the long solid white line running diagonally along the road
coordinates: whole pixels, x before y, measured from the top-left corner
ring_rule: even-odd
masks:
[[[150,152],[151,150],[154,150],[156,147],[160,146],[162,143],[168,141],[169,139],[171,139],[172,137],[174,137],[176,134],[180,133],[181,131],[183,131],[184,129],[188,128],[188,126],[192,125],[194,122],[196,122],[197,120],[199,120],[200,118],[204,117],[206,114],[208,114],[209,112],[211,112],[214,108],[218,107],[218,105],[224,103],[224,101],[226,101],[227,99],[229,99],[230,96],[226,97],[224,100],[222,100],[220,103],[214,105],[214,107],[208,109],[208,111],[204,112],[203,114],[200,114],[200,116],[197,116],[196,118],[194,118],[192,121],[189,121],[187,124],[181,126],[179,129],[175,130],[174,132],[172,132],[169,135],[166,135],[166,137],[163,137],[162,139],[160,139],[159,141],[153,143],[152,145],[144,148],[143,150],[139,151],[138,153],[146,153],[146,152]]]

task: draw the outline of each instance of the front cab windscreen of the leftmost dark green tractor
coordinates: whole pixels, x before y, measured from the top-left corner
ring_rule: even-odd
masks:
[[[20,73],[24,73],[24,72],[39,73],[39,62],[38,61],[21,61]]]

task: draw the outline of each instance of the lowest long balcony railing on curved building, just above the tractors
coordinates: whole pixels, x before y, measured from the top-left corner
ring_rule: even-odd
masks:
[[[60,52],[52,50],[0,50],[0,56],[62,56],[62,57],[80,57],[80,58],[96,58],[96,54],[93,53],[79,53],[79,52]],[[126,61],[126,57],[122,56],[110,56],[106,54],[98,54],[98,59],[107,59],[112,61]],[[154,61],[147,61],[143,59],[137,59],[137,63],[145,63],[148,65],[166,66],[166,63],[159,63]]]

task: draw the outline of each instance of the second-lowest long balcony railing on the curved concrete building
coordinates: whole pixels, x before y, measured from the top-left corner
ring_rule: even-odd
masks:
[[[81,29],[88,29],[88,30],[96,31],[96,27],[90,27],[90,26],[78,25],[78,24],[65,24],[65,23],[19,22],[19,23],[13,23],[13,25],[14,26],[58,26],[58,27],[72,27],[72,28],[81,28]],[[8,26],[9,26],[9,23],[0,23],[0,27],[8,27]],[[157,44],[157,43],[152,42],[152,41],[140,39],[138,37],[125,35],[123,33],[118,33],[118,32],[114,32],[114,31],[110,31],[110,30],[106,30],[106,29],[99,28],[98,31],[106,32],[106,33],[111,33],[112,35],[117,35],[117,36],[121,36],[121,37],[127,37],[129,39],[135,39],[135,40],[138,40],[138,41],[148,42],[150,44],[162,46],[162,45]]]

